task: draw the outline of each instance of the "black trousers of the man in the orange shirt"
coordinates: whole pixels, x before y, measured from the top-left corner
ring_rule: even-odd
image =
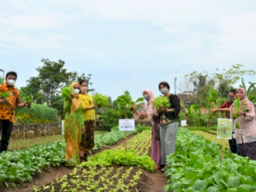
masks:
[[[2,132],[0,141],[0,153],[6,151],[9,145],[9,140],[12,134],[13,123],[9,120],[0,119],[0,132]]]

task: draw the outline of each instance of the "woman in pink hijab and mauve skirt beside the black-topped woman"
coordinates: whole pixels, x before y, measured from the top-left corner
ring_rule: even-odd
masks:
[[[147,105],[142,112],[137,111],[135,108],[131,108],[134,111],[134,119],[138,120],[143,118],[149,118],[152,125],[152,139],[151,139],[151,158],[155,162],[155,170],[161,168],[161,143],[159,136],[159,115],[156,108],[153,106],[155,99],[154,93],[151,90],[144,90],[142,93]]]

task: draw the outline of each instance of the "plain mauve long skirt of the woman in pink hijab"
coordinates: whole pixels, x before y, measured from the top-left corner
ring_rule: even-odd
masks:
[[[158,166],[161,165],[161,143],[160,140],[156,140],[156,134],[157,131],[159,132],[159,129],[159,120],[156,120],[154,121],[154,125],[152,125],[151,158]]]

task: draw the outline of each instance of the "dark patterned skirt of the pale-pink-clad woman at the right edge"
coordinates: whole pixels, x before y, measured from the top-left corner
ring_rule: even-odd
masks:
[[[240,143],[238,146],[241,156],[249,157],[251,160],[256,160],[256,141]]]

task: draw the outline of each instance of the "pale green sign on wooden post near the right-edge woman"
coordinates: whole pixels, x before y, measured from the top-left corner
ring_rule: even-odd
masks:
[[[233,121],[228,118],[218,118],[217,139],[222,140],[221,159],[225,156],[225,140],[232,138]]]

